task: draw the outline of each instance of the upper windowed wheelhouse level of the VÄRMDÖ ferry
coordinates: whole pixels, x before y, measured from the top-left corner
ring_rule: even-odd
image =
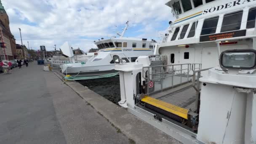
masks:
[[[155,48],[155,40],[147,40],[147,38],[113,38],[108,40],[99,40],[95,42],[97,48]]]

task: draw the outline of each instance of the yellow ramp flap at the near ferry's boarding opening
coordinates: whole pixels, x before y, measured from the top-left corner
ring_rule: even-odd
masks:
[[[188,119],[189,109],[184,109],[182,107],[177,107],[173,104],[169,104],[167,102],[160,101],[158,99],[154,99],[154,98],[149,97],[149,96],[145,96],[143,99],[141,99],[141,101],[143,101],[147,104],[151,104],[152,106],[158,107],[160,109],[163,109],[167,112],[171,112],[172,114],[178,115],[179,117],[182,117],[186,120]]]

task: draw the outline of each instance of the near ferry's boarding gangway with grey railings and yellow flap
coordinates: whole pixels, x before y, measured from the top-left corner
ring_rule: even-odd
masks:
[[[155,72],[154,68],[160,68]],[[210,68],[208,68],[210,69]],[[195,125],[200,105],[202,64],[171,64],[143,67],[145,96],[144,107],[153,109],[179,123]],[[156,76],[157,75],[157,76]],[[191,131],[196,131],[197,128]]]

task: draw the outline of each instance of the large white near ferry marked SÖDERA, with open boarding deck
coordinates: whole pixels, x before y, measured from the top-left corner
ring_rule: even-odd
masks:
[[[255,144],[256,1],[166,5],[176,20],[155,56],[113,56],[120,106],[184,144]]]

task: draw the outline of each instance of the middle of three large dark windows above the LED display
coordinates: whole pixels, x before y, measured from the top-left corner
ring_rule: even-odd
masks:
[[[229,13],[224,15],[221,26],[221,32],[228,32],[232,30],[239,30],[241,27],[243,11]]]

